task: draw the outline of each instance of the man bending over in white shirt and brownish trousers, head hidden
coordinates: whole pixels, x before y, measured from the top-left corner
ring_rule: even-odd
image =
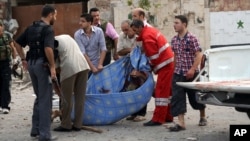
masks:
[[[77,43],[69,35],[58,35],[58,64],[60,68],[61,125],[54,129],[59,132],[80,131],[82,127],[83,106],[88,80],[89,65]],[[74,94],[74,95],[73,95]],[[74,120],[71,120],[72,95],[74,97]],[[73,124],[72,124],[73,123]]]

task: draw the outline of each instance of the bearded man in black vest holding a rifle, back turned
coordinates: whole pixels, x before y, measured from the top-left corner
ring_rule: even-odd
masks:
[[[17,39],[16,49],[25,70],[28,69],[36,99],[33,107],[31,137],[39,141],[54,140],[51,137],[52,84],[56,79],[54,62],[54,31],[52,25],[57,11],[50,5],[42,9],[42,18],[29,26]],[[22,47],[29,46],[25,59]]]

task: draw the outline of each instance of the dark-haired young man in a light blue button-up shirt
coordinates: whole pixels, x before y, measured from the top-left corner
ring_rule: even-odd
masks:
[[[103,69],[107,49],[102,29],[92,26],[92,22],[93,17],[90,14],[82,14],[79,22],[81,29],[75,32],[74,38],[89,64],[91,73],[96,74]]]

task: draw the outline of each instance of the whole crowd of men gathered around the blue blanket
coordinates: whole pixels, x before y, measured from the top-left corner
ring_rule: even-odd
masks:
[[[3,32],[0,22],[0,112],[10,112],[10,62],[16,58],[17,51],[36,94],[30,136],[39,141],[56,139],[51,136],[50,115],[52,82],[57,80],[62,90],[62,116],[60,126],[54,131],[80,131],[88,78],[101,72],[112,59],[126,56],[139,46],[148,58],[152,73],[158,76],[153,94],[153,117],[143,125],[159,126],[173,122],[177,117],[177,122],[169,130],[185,130],[187,94],[191,106],[200,111],[199,125],[205,126],[205,105],[197,103],[195,91],[176,85],[178,81],[192,81],[199,72],[202,50],[197,37],[187,29],[188,19],[184,15],[175,16],[173,26],[177,35],[168,41],[158,29],[147,23],[143,9],[135,8],[131,13],[132,20],[122,21],[120,34],[110,22],[100,18],[98,8],[91,8],[89,13],[80,15],[80,28],[74,37],[54,35],[52,26],[60,13],[51,5],[42,8],[41,20],[34,21],[16,41]],[[27,53],[23,50],[26,46],[29,46]],[[141,73],[133,71],[131,75],[139,77]],[[75,119],[71,121],[73,93]],[[126,119],[144,121],[146,112],[147,105]]]

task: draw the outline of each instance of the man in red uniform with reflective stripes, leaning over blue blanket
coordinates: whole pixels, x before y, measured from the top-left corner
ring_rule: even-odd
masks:
[[[171,80],[174,71],[174,54],[166,38],[156,28],[144,26],[141,20],[133,20],[132,29],[142,41],[145,55],[148,57],[158,79],[155,87],[155,110],[153,118],[144,126],[161,125],[165,121],[173,121],[170,114]]]

